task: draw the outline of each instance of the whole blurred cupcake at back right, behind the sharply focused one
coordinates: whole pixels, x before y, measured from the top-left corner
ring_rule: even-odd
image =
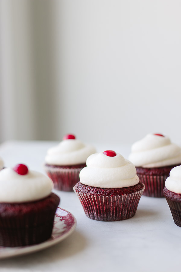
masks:
[[[181,164],[181,148],[162,134],[148,134],[132,145],[129,160],[145,184],[143,195],[163,197],[170,170]]]

